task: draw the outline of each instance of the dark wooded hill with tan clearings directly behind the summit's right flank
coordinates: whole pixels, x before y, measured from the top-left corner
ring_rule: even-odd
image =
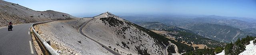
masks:
[[[198,34],[194,34],[191,31],[188,32],[189,30],[184,30],[179,27],[167,26],[158,22],[145,22],[145,23],[140,23],[139,25],[141,27],[148,28],[148,29],[164,30],[167,32],[167,34],[163,34],[164,36],[173,37],[178,42],[185,41],[185,42],[193,42],[194,44],[203,44],[208,47],[216,47],[216,46],[224,47],[223,42],[218,42],[215,40],[211,40],[209,38],[205,38]]]

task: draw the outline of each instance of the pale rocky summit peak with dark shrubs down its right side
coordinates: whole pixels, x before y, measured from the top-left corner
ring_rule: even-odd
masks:
[[[94,18],[82,32],[122,55],[163,55],[164,48],[169,44],[170,39],[112,13],[102,13]]]

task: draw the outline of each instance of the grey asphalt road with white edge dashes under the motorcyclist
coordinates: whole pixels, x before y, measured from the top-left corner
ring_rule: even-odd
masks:
[[[30,30],[33,23],[0,28],[0,55],[37,55]]]

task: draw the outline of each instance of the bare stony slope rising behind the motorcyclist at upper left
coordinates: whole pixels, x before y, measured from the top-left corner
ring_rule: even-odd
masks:
[[[14,25],[22,23],[33,23],[41,21],[59,20],[59,19],[76,19],[67,13],[58,11],[34,11],[32,9],[0,0],[0,28],[6,27],[9,21]]]

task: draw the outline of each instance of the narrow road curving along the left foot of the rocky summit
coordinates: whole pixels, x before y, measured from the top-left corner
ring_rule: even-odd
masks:
[[[95,18],[93,18],[95,19]],[[82,34],[83,36],[87,37],[87,38],[90,38],[88,36],[86,36],[83,32],[82,32],[82,28],[87,24],[89,23],[90,21],[92,21],[93,19],[87,21],[86,23],[84,23],[84,25],[82,25],[80,28],[79,28],[79,32],[80,34]],[[90,38],[91,40],[93,40],[92,38]],[[97,42],[98,44],[100,44],[100,46],[104,46],[103,44],[101,44],[100,42],[96,41],[96,40],[93,40],[94,42]],[[107,46],[104,46],[105,49],[107,49],[110,53],[114,54],[114,55],[120,55],[119,53],[116,53],[115,51],[113,51],[112,49],[108,48]]]

